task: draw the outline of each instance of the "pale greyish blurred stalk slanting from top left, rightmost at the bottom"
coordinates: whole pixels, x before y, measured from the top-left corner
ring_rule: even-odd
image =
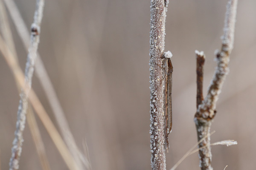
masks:
[[[29,31],[26,28],[26,25],[20,15],[20,12],[17,6],[15,5],[15,3],[13,2],[13,0],[4,0],[4,1],[12,17],[12,20],[16,26],[18,35],[20,36],[24,47],[27,48],[29,45],[29,39],[27,38],[26,35],[29,35]],[[82,166],[82,163],[87,169],[90,169],[90,163],[88,159],[85,158],[85,156],[81,153],[78,146],[76,145],[75,139],[71,133],[64,111],[58,100],[57,94],[53,88],[52,82],[47,74],[46,68],[44,67],[41,57],[39,54],[37,55],[38,55],[38,58],[37,58],[37,62],[35,63],[35,73],[38,76],[39,81],[41,82],[44,92],[46,93],[47,99],[54,113],[56,122],[60,127],[61,134],[64,137],[64,140],[70,152],[72,153],[74,159],[79,165],[80,169],[84,169]]]

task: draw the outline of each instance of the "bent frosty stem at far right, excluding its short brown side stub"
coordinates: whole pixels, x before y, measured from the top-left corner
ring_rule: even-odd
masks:
[[[221,88],[225,77],[228,74],[228,63],[230,60],[230,53],[233,49],[234,32],[236,23],[236,8],[237,0],[229,0],[227,3],[227,12],[224,21],[224,35],[222,36],[221,51],[216,53],[217,67],[212,81],[209,85],[207,96],[198,105],[195,113],[195,125],[198,133],[198,141],[209,134],[212,119],[216,111],[216,102],[221,93]],[[209,136],[209,135],[208,135]],[[199,159],[201,170],[212,170],[211,161],[212,153],[210,148],[210,137],[204,139],[198,147],[207,146],[199,150]]]

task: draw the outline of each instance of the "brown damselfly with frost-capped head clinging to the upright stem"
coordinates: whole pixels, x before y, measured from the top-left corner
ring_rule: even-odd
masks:
[[[169,54],[168,54],[169,53]],[[168,152],[168,135],[172,131],[172,53],[166,52],[163,59],[164,74],[164,111],[165,111],[165,148]]]

